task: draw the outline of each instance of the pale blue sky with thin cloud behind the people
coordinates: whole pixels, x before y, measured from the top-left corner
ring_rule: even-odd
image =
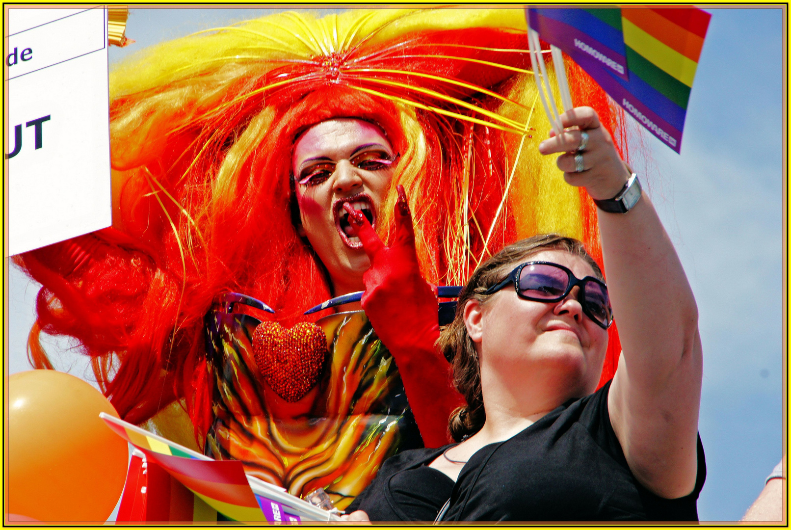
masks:
[[[680,156],[650,134],[635,161],[698,301],[704,350],[700,433],[708,478],[703,521],[739,519],[782,448],[782,9],[710,9]],[[130,47],[270,12],[131,9]],[[634,124],[634,122],[632,122]],[[9,373],[29,369],[36,286],[10,272]],[[86,376],[68,341],[59,369]]]

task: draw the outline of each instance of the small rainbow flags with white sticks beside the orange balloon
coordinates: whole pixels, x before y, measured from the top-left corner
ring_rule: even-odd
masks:
[[[110,429],[146,456],[149,470],[158,467],[167,471],[172,479],[195,494],[195,499],[192,499],[189,495],[180,494],[178,487],[168,488],[166,485],[162,490],[170,491],[172,500],[169,506],[147,509],[147,513],[166,513],[170,517],[174,514],[180,514],[179,517],[192,514],[193,517],[187,518],[187,521],[205,521],[207,510],[210,509],[216,510],[229,521],[297,524],[301,521],[339,520],[323,509],[286,494],[282,488],[248,477],[238,460],[214,460],[119,418],[104,413],[100,417]],[[251,483],[255,484],[255,492]],[[159,501],[161,499],[154,500]],[[134,505],[134,501],[132,503]]]

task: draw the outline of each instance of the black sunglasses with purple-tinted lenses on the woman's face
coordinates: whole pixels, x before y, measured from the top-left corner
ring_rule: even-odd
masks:
[[[490,287],[484,294],[496,293],[513,283],[517,295],[525,300],[558,302],[569,296],[574,286],[580,286],[582,312],[593,322],[607,329],[612,324],[612,308],[607,286],[599,278],[579,279],[566,267],[547,261],[529,261],[511,271],[508,278]]]

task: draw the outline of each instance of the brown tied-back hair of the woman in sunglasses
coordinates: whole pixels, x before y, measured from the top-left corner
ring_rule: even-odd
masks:
[[[545,250],[570,252],[585,260],[593,269],[596,277],[604,279],[599,265],[585,251],[585,246],[571,237],[558,234],[542,234],[509,244],[500,252],[481,264],[470,277],[467,285],[459,293],[456,317],[440,334],[437,346],[445,358],[453,365],[453,383],[467,399],[467,405],[458,407],[448,419],[448,432],[455,441],[462,441],[477,433],[486,422],[481,394],[481,370],[475,344],[467,335],[464,325],[464,306],[468,300],[477,300],[482,305],[491,297],[485,294],[491,286],[502,282],[517,263]]]

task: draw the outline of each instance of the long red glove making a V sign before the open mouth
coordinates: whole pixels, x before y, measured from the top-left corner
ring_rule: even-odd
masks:
[[[448,443],[448,418],[464,397],[453,388],[450,365],[434,343],[440,336],[437,297],[420,275],[412,215],[403,186],[395,205],[395,243],[385,247],[365,215],[351,208],[350,225],[371,260],[363,274],[361,305],[398,366],[426,447]]]

